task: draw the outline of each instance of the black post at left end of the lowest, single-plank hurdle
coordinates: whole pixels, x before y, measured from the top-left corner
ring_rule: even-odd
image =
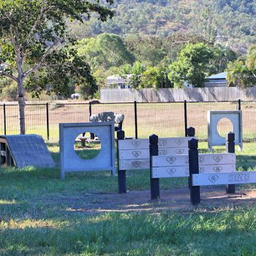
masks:
[[[189,140],[189,187],[190,187],[190,201],[193,206],[200,203],[200,187],[192,186],[192,174],[199,173],[198,163],[198,140]]]

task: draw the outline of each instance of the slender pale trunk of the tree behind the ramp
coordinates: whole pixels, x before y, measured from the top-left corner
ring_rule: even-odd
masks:
[[[25,99],[24,99],[24,87],[23,87],[23,79],[18,79],[18,105],[19,105],[19,120],[20,120],[20,135],[24,135],[26,133],[25,128]]]

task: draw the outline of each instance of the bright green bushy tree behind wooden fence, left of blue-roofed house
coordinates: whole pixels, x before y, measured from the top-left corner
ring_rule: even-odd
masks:
[[[184,83],[202,87],[208,75],[209,61],[213,57],[214,52],[208,45],[188,43],[178,54],[177,61],[170,64],[168,77],[176,88],[182,88]]]

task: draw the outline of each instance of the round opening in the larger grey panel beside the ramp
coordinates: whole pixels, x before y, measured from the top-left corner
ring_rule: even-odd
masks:
[[[97,157],[100,149],[100,140],[93,133],[84,132],[75,138],[74,151],[81,159],[93,159]]]

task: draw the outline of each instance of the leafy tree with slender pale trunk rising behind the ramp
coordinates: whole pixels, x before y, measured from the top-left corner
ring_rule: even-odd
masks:
[[[106,2],[113,4],[113,0]],[[20,134],[26,132],[26,82],[36,95],[46,84],[49,92],[65,90],[70,78],[75,83],[87,83],[95,91],[89,65],[69,48],[75,40],[69,37],[66,24],[67,19],[83,22],[84,15],[90,18],[91,12],[98,13],[102,21],[113,17],[98,0],[0,1],[0,75],[17,83]]]

